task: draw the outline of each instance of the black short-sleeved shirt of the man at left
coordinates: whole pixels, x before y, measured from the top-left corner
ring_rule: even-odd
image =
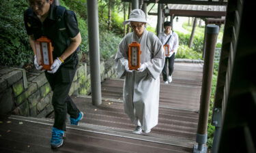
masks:
[[[33,35],[34,39],[38,39],[41,36],[46,36],[51,39],[53,43],[53,58],[57,58],[63,54],[63,52],[70,45],[70,38],[75,37],[79,33],[78,23],[76,15],[70,10],[66,10],[63,14],[63,22],[65,27],[59,27],[56,14],[57,6],[51,5],[49,15],[44,22],[41,22],[38,16],[33,12],[31,8],[27,9],[24,13],[25,28],[28,35]],[[77,49],[78,50],[78,49]],[[65,63],[74,59],[74,54],[66,58]],[[64,64],[65,64],[64,63]]]

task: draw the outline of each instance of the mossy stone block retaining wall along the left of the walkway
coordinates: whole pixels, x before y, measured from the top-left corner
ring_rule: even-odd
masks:
[[[100,63],[101,79],[115,76],[109,68],[105,72],[104,62]],[[86,63],[79,63],[69,95],[88,95],[91,92],[90,74]],[[0,115],[46,117],[53,112],[51,99],[53,91],[44,72],[0,66]]]

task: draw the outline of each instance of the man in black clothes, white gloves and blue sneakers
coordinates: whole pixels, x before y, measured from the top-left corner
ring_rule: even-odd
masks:
[[[53,5],[53,0],[29,0],[29,9],[24,13],[25,28],[29,44],[35,54],[35,40],[44,36],[53,44],[53,65],[45,71],[46,78],[53,90],[55,122],[52,129],[51,146],[58,148],[63,144],[66,131],[66,114],[70,114],[70,124],[79,124],[83,112],[77,109],[68,92],[76,72],[78,56],[76,51],[81,44],[76,15],[65,7]],[[34,65],[38,65],[34,56]]]

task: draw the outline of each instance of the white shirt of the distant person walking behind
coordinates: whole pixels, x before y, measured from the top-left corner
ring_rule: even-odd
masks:
[[[171,38],[169,39],[170,36]],[[177,33],[175,33],[174,31],[171,31],[171,33],[167,35],[165,34],[165,31],[163,31],[158,35],[158,38],[162,42],[162,45],[165,45],[166,41],[169,39],[167,44],[170,47],[170,56],[173,54],[173,52],[177,54],[177,48],[179,47],[179,36],[177,35]]]

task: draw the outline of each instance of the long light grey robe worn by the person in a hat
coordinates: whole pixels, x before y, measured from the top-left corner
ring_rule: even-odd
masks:
[[[143,131],[158,124],[158,105],[160,91],[160,73],[165,65],[165,52],[162,43],[146,29],[139,39],[128,33],[119,44],[115,56],[115,70],[124,81],[124,112],[135,125],[141,125]],[[128,44],[137,41],[141,44],[141,64],[147,63],[143,72],[126,72],[124,65],[128,61]]]

